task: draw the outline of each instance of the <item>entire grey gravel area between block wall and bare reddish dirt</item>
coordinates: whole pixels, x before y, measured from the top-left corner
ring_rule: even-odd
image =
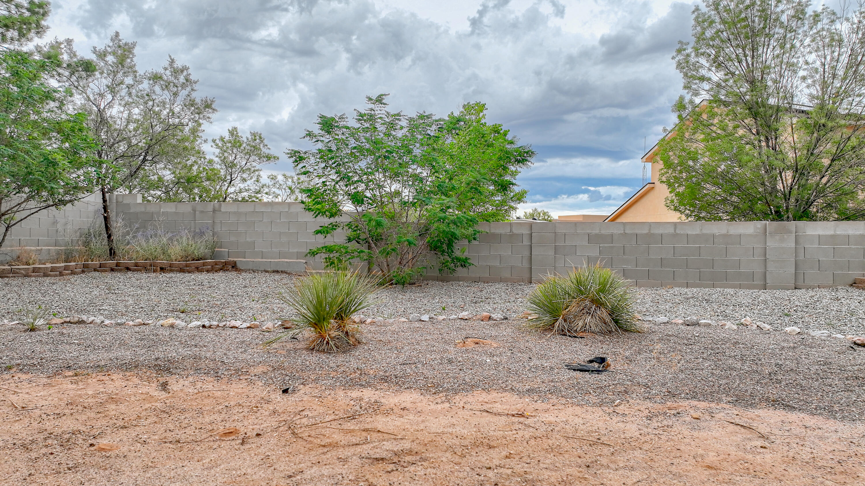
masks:
[[[214,319],[275,317],[287,310],[276,298],[292,277],[263,273],[126,275],[0,280],[0,319],[43,305],[61,316],[108,318],[195,315]],[[369,315],[412,312],[522,311],[531,285],[425,283],[382,292]],[[862,332],[865,292],[640,289],[645,315],[735,319],[745,315],[774,327]],[[444,306],[445,310],[441,310]],[[465,306],[465,307],[462,307]],[[789,314],[785,315],[785,314]],[[190,321],[189,317],[185,320]],[[646,332],[573,339],[522,329],[522,321],[394,323],[366,328],[361,347],[343,355],[305,351],[284,340],[263,350],[272,335],[253,329],[163,329],[69,325],[22,333],[0,326],[0,365],[14,372],[48,374],[99,368],[152,369],[164,374],[255,374],[291,386],[395,387],[435,393],[477,389],[560,396],[581,403],[615,400],[702,400],[737,406],[772,406],[863,420],[865,349],[830,338],[788,336],[650,324]],[[455,348],[466,336],[490,339],[492,348]],[[563,362],[610,356],[604,374],[577,374]],[[10,370],[3,368],[4,373]]]

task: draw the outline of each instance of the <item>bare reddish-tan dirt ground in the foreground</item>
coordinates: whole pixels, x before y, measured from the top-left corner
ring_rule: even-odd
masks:
[[[865,424],[700,402],[113,373],[5,374],[0,400],[2,484],[865,484]]]

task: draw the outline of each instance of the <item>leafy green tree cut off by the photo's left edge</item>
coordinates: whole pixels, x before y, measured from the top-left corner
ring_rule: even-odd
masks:
[[[16,50],[44,31],[48,3],[0,2],[0,246],[13,227],[93,190],[100,163],[84,113],[69,114],[57,63]]]

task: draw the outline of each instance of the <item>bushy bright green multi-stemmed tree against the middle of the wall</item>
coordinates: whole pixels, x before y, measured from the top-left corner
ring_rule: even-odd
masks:
[[[319,131],[304,136],[317,149],[285,152],[299,176],[313,179],[303,189],[306,210],[336,220],[315,233],[345,232],[344,243],[309,255],[324,255],[334,268],[359,260],[403,284],[427,264],[439,272],[465,268],[471,260],[456,243],[477,240],[482,218],[509,219],[524,198],[512,168],[528,165],[534,152],[486,125],[483,106],[446,119],[407,116],[388,112],[386,96],[368,97],[354,125],[344,114],[319,115]]]

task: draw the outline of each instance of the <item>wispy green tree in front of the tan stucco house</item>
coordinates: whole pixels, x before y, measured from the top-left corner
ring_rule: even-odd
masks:
[[[862,219],[863,11],[703,5],[674,56],[689,98],[660,144],[668,208],[697,221]]]

